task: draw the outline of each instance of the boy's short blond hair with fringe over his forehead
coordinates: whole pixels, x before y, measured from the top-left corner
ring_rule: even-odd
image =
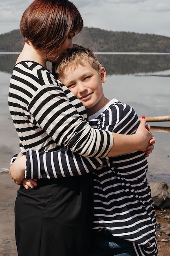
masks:
[[[62,79],[68,68],[74,71],[78,65],[84,66],[86,63],[89,63],[97,72],[100,72],[102,65],[95,54],[88,48],[74,44],[72,49],[60,56],[56,63],[53,63],[52,72],[58,79]]]

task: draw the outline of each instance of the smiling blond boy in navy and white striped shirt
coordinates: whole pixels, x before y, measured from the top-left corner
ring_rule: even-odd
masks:
[[[106,99],[102,83],[106,71],[89,49],[75,45],[53,64],[53,72],[86,107],[93,128],[121,134],[135,133],[135,111],[117,99]],[[57,166],[55,152],[46,152],[48,173]],[[34,160],[34,154],[31,156]],[[49,164],[53,160],[53,165]],[[28,164],[28,160],[27,160]],[[40,157],[44,166],[44,156]],[[51,169],[50,169],[51,168]],[[42,169],[42,168],[41,168]],[[157,256],[156,219],[146,179],[145,153],[134,151],[110,157],[93,172],[95,214],[89,256]],[[27,165],[27,172],[29,167]]]

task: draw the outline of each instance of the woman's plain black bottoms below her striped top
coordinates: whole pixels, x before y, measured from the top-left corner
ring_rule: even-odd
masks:
[[[86,256],[94,214],[92,173],[20,186],[15,201],[18,256]]]

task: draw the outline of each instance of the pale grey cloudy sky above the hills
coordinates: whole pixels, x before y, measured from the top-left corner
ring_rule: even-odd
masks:
[[[20,18],[33,0],[0,2],[0,34],[19,28]],[[170,37],[170,0],[72,0],[84,25]]]

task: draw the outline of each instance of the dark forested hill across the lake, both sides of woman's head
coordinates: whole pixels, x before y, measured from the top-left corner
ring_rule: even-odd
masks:
[[[108,31],[84,27],[74,43],[94,52],[164,52],[170,53],[170,37],[155,34]],[[0,35],[0,52],[20,52],[23,38],[19,29]]]

